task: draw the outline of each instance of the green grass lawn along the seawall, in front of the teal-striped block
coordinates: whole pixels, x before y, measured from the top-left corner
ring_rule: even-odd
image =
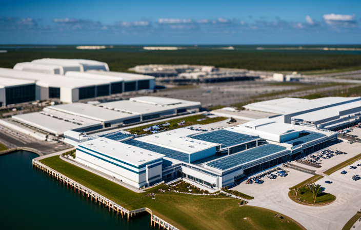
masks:
[[[149,193],[156,194],[155,199],[151,199],[145,196],[147,192],[134,193],[57,156],[41,162],[125,208],[148,207],[179,229],[304,229],[282,214],[253,206],[239,206],[239,200],[225,196],[162,193],[156,187],[149,190]],[[163,187],[166,185],[161,186],[166,188]]]

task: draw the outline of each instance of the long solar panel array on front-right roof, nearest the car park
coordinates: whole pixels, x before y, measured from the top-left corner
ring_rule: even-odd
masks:
[[[209,162],[207,165],[220,170],[225,170],[283,150],[286,150],[286,147],[274,144],[265,144],[239,152],[238,154],[233,154],[228,157]]]

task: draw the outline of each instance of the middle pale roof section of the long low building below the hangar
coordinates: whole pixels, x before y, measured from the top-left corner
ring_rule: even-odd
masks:
[[[62,104],[62,105],[53,105],[46,107],[47,111],[56,110],[64,113],[70,113],[75,116],[81,116],[89,118],[95,121],[113,121],[119,119],[131,119],[137,118],[137,114],[129,114],[126,112],[117,112],[114,110],[101,108],[96,105],[90,105],[85,103],[72,103],[72,104]]]

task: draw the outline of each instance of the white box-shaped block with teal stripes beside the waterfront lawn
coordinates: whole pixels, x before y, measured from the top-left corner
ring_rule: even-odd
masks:
[[[162,154],[107,138],[79,144],[75,160],[134,187],[162,181]]]

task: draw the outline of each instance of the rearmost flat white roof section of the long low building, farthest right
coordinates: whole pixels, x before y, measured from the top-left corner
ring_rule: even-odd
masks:
[[[130,98],[130,101],[134,102],[141,102],[141,103],[148,103],[153,105],[188,105],[188,106],[200,106],[200,102],[192,102],[186,101],[181,99],[174,99],[174,98],[164,98],[164,97],[137,97],[137,98]],[[179,106],[181,107],[181,106]]]

